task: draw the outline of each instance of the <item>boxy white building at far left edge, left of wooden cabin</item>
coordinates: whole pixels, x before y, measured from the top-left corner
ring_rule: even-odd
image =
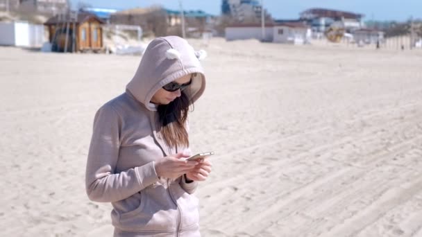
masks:
[[[38,47],[44,43],[44,26],[26,21],[0,22],[0,45]]]

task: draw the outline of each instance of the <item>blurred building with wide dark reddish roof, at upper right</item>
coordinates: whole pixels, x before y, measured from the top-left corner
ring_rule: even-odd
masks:
[[[300,19],[311,26],[314,33],[325,32],[335,21],[341,21],[346,32],[364,28],[364,15],[340,10],[311,8],[301,12]]]

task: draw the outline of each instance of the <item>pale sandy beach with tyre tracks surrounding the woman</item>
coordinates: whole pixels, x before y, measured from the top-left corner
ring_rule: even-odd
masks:
[[[422,50],[191,42],[192,151],[216,153],[203,236],[422,236]],[[87,150],[139,62],[0,47],[1,236],[112,236]]]

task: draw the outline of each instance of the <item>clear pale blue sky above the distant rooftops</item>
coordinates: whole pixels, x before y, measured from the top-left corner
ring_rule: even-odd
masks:
[[[365,20],[405,21],[410,17],[422,19],[422,0],[263,0],[264,8],[275,19],[297,19],[307,8],[330,8],[365,15]],[[127,9],[161,5],[171,10],[180,9],[178,0],[71,0],[72,6],[78,2],[89,3],[98,8]],[[204,10],[212,15],[221,13],[221,0],[182,0],[185,10]]]

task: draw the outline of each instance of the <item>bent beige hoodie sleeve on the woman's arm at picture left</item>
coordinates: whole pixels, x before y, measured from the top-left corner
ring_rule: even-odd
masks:
[[[111,105],[96,112],[85,173],[88,198],[117,202],[158,181],[154,162],[114,173],[119,158],[121,116]]]

